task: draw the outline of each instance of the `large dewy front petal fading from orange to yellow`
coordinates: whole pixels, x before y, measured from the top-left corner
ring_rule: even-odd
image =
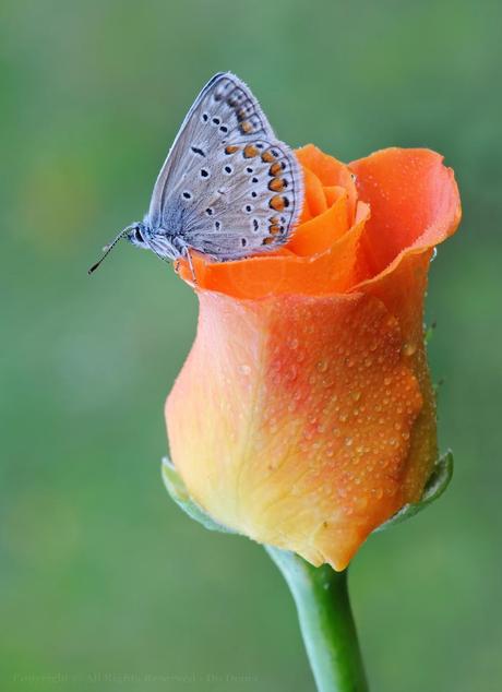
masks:
[[[362,294],[199,298],[166,407],[190,494],[224,525],[344,569],[403,503],[421,396],[396,320]]]

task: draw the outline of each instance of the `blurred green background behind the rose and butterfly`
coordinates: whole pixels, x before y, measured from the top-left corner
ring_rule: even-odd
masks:
[[[313,690],[263,549],[160,480],[190,288],[125,243],[86,275],[218,70],[294,145],[423,145],[456,170],[428,302],[454,482],[368,541],[351,593],[374,691],[501,689],[501,22],[454,0],[4,0],[1,690]]]

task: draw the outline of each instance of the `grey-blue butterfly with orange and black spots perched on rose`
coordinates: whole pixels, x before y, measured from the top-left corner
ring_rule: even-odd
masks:
[[[190,251],[216,261],[277,249],[291,236],[303,201],[301,168],[276,139],[249,87],[230,72],[195,98],[160,169],[142,222],[104,248],[94,272],[125,237],[159,258]]]

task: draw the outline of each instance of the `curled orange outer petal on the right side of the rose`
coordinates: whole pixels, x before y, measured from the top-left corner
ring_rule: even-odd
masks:
[[[443,157],[429,150],[383,150],[350,167],[357,175],[359,194],[371,205],[357,263],[363,281],[354,290],[379,298],[396,317],[403,354],[423,398],[403,481],[407,497],[417,501],[438,457],[423,301],[432,249],[451,236],[461,220],[458,188]]]

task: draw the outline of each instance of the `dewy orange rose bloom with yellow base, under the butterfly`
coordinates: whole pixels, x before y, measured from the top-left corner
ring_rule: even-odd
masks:
[[[312,145],[297,156],[304,208],[284,248],[194,255],[198,335],[166,418],[172,461],[212,517],[343,570],[420,498],[438,455],[423,296],[461,205],[428,150],[348,166]]]

